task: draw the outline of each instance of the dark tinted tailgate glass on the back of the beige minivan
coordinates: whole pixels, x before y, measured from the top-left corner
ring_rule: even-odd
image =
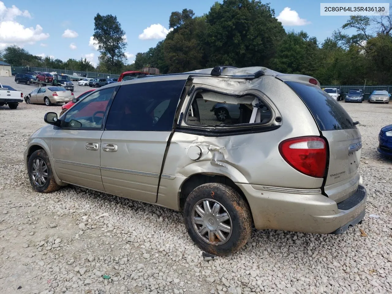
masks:
[[[347,111],[325,91],[314,85],[291,81],[285,83],[301,97],[316,120],[320,131],[357,128]]]

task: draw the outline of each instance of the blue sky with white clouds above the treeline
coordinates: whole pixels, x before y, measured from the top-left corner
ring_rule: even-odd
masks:
[[[3,0],[0,1],[0,49],[9,44],[17,44],[35,55],[53,56],[64,61],[68,58],[87,57],[95,65],[99,53],[92,44],[89,45],[94,31],[94,16],[97,13],[112,14],[117,16],[126,33],[128,45],[125,51],[131,63],[136,53],[147,51],[165,37],[172,11],[187,8],[192,9],[196,15],[203,15],[208,13],[214,2],[215,0],[149,0],[117,3],[71,0],[44,4],[45,1]],[[332,31],[341,27],[349,18],[320,16],[320,2],[311,0],[272,0],[270,5],[275,10],[276,17],[285,9],[283,24],[296,24],[283,25],[287,31],[306,31],[310,36],[316,36],[319,42],[331,36]]]

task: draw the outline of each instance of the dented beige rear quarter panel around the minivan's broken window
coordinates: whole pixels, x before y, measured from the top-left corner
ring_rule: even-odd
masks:
[[[225,93],[228,94],[258,94],[278,109],[282,124],[273,131],[220,137],[175,131],[163,168],[163,174],[171,175],[172,178],[161,179],[158,203],[173,208],[178,205],[182,183],[194,174],[222,175],[234,183],[273,187],[321,187],[322,178],[313,178],[296,171],[279,153],[278,146],[283,140],[320,135],[309,110],[289,86],[274,76],[238,82],[233,79],[198,77],[194,79],[194,84],[195,89],[207,85],[209,89],[220,92],[226,89]],[[186,113],[191,97],[192,94],[184,100],[182,113]],[[182,121],[181,126],[187,124]],[[192,146],[200,147],[200,159],[191,160],[188,157],[187,150]]]

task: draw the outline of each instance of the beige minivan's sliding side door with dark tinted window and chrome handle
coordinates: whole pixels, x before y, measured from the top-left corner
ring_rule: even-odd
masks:
[[[101,138],[106,192],[156,202],[163,155],[186,78],[133,80],[120,87]]]

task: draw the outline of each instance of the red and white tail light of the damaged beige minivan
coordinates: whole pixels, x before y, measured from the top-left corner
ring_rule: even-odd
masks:
[[[327,144],[316,136],[285,140],[279,144],[283,159],[297,171],[322,178],[327,167]]]

